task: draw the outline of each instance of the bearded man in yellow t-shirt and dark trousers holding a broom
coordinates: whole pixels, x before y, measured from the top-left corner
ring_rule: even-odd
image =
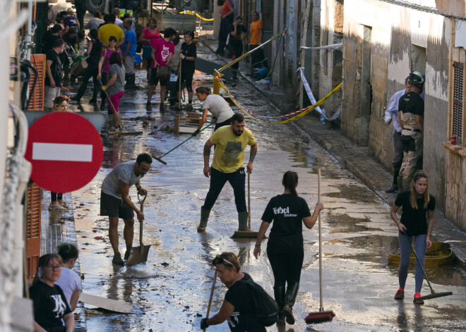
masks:
[[[209,166],[210,149],[216,145],[212,167]],[[198,232],[205,231],[207,221],[218,195],[228,181],[234,192],[234,203],[237,205],[239,227],[238,230],[247,230],[248,209],[246,208],[246,195],[244,189],[244,149],[251,146],[247,172],[252,172],[252,163],[257,153],[257,142],[251,130],[244,128],[244,116],[234,113],[232,123],[215,130],[204,145],[204,175],[210,176],[210,187],[203,207],[201,207],[201,223]]]

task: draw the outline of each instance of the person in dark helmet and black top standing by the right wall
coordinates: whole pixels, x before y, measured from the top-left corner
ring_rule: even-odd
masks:
[[[424,75],[419,71],[410,73],[408,92],[400,98],[398,104],[398,121],[401,125],[401,143],[403,161],[400,167],[400,184],[409,188],[418,161],[422,159],[424,141],[424,100],[420,93],[424,88]],[[402,188],[398,188],[402,190]]]

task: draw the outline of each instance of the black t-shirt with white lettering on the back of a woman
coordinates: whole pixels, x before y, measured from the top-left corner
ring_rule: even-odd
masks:
[[[262,220],[271,223],[267,243],[270,252],[289,252],[303,247],[303,218],[311,216],[304,198],[292,194],[277,195],[270,199]]]

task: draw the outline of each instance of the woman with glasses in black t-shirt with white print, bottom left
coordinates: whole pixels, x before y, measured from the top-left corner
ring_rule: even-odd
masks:
[[[34,309],[34,331],[74,331],[73,312],[63,290],[55,285],[61,276],[61,264],[58,254],[44,254],[39,259],[40,278],[36,276],[29,288]]]

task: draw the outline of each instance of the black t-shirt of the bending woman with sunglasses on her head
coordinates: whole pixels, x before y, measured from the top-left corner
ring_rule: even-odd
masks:
[[[246,331],[266,331],[265,327],[256,319],[253,314],[254,305],[252,301],[252,293],[249,285],[242,281],[252,280],[248,273],[244,273],[244,277],[232,285],[225,294],[225,301],[231,303],[234,307],[232,316],[228,318],[229,330],[232,332]]]

